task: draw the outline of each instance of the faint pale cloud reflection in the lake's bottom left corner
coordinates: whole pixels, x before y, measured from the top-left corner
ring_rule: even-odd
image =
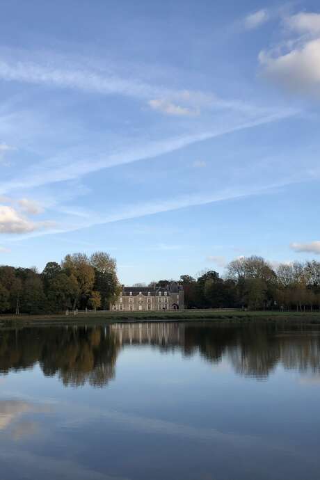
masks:
[[[46,480],[128,480],[124,477],[109,475],[87,470],[81,463],[61,460],[48,456],[38,456],[27,451],[0,451],[1,472],[8,472],[10,478],[22,478],[21,472],[28,472],[28,479]]]

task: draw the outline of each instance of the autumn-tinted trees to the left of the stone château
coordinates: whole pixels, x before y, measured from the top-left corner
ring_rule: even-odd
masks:
[[[36,269],[0,266],[0,312],[45,314],[67,309],[107,309],[118,295],[115,259],[108,253],[66,255],[61,264]]]

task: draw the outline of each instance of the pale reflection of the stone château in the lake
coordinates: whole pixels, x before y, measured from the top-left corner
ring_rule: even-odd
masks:
[[[110,326],[110,330],[120,345],[182,346],[184,344],[182,323],[114,323]]]

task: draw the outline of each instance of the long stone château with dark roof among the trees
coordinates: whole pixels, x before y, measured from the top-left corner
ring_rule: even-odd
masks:
[[[110,310],[124,312],[157,312],[159,310],[184,310],[184,288],[171,282],[166,288],[125,287]]]

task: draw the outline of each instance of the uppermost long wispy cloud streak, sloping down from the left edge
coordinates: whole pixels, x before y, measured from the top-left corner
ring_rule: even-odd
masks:
[[[19,58],[21,56],[21,58]],[[30,58],[35,58],[30,61]],[[51,59],[48,65],[47,57]],[[28,60],[26,60],[28,58]],[[168,115],[198,115],[200,109],[234,109],[241,112],[266,113],[250,102],[223,99],[212,92],[188,88],[168,88],[163,83],[148,83],[132,74],[116,72],[116,67],[103,67],[105,61],[92,63],[88,58],[59,57],[46,52],[45,59],[35,52],[0,51],[0,79],[30,83],[48,88],[78,90],[97,95],[121,95],[138,99],[152,109]],[[120,69],[121,70],[121,69]],[[169,83],[170,84],[170,83]],[[269,111],[270,113],[270,111]]]

